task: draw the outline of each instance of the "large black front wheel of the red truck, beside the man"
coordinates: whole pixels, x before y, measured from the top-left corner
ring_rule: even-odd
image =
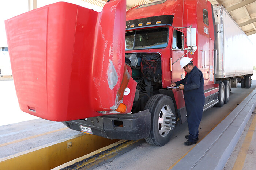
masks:
[[[157,94],[148,100],[146,109],[151,113],[151,127],[145,140],[149,144],[163,146],[169,142],[176,123],[173,100],[169,96]]]

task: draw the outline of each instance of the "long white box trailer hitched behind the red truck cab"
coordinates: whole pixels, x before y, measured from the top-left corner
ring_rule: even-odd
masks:
[[[213,5],[215,19],[215,70],[214,78],[219,82],[222,106],[229,100],[230,86],[251,87],[253,74],[252,42],[222,5]],[[220,100],[222,101],[222,100]]]

